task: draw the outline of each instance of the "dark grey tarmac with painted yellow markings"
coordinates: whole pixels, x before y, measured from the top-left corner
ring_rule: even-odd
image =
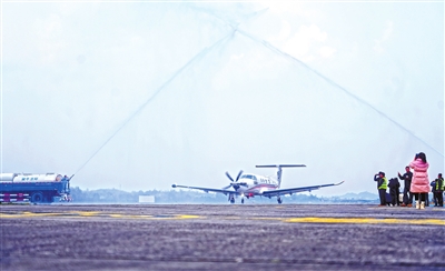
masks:
[[[0,270],[445,270],[445,208],[1,204]]]

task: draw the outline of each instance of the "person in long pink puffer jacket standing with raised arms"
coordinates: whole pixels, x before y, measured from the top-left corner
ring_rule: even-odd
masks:
[[[425,153],[417,153],[413,162],[409,163],[409,168],[414,169],[409,190],[416,199],[416,209],[425,209],[426,197],[428,197],[429,193],[429,164],[426,161]]]

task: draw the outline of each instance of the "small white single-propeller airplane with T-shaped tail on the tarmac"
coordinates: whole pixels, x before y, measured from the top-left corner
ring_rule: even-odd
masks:
[[[216,193],[224,193],[229,195],[229,201],[230,203],[235,203],[235,197],[241,197],[241,203],[244,203],[244,199],[247,198],[254,198],[255,195],[260,195],[260,197],[277,197],[277,201],[279,204],[283,203],[281,195],[285,194],[293,194],[293,193],[298,193],[298,192],[306,192],[306,191],[313,191],[317,190],[320,188],[326,188],[326,187],[334,187],[334,185],[339,185],[344,183],[345,181],[342,181],[339,183],[330,183],[330,184],[318,184],[318,185],[313,185],[313,187],[303,187],[303,188],[286,188],[286,189],[280,189],[281,184],[281,173],[283,173],[283,168],[299,168],[299,167],[306,167],[305,164],[265,164],[265,165],[256,165],[256,168],[277,168],[277,178],[273,177],[266,177],[266,175],[259,175],[259,174],[244,174],[243,170],[239,171],[237,178],[234,180],[228,172],[226,172],[227,178],[230,180],[230,184],[221,188],[221,189],[215,189],[215,188],[199,188],[199,187],[188,187],[188,185],[179,185],[179,184],[172,184],[172,188],[187,188],[187,189],[197,189],[201,190],[205,192],[216,192]],[[231,190],[233,188],[234,190]]]

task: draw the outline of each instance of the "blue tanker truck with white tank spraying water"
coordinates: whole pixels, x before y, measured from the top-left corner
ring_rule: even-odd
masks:
[[[0,202],[71,201],[71,178],[57,173],[0,173]]]

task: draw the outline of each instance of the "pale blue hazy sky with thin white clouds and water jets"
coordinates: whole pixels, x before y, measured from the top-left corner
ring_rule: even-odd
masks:
[[[1,171],[73,187],[376,192],[444,172],[444,3],[2,1]]]

